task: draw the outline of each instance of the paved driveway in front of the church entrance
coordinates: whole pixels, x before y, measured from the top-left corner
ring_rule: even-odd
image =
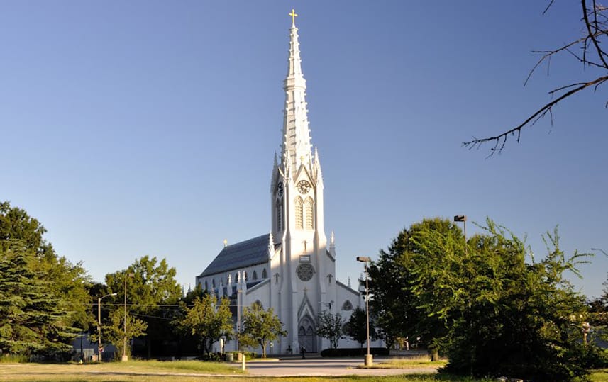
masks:
[[[380,361],[381,359],[375,359]],[[358,369],[362,358],[284,359],[281,361],[252,361],[246,367],[250,376],[391,376],[409,373],[435,373],[435,368],[418,369]]]

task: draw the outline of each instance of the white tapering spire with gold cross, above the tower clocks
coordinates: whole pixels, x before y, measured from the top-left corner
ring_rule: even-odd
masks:
[[[285,109],[283,116],[282,157],[290,157],[293,169],[300,164],[311,162],[311,142],[306,110],[306,79],[302,74],[302,60],[298,43],[298,28],[292,9],[292,28],[289,29],[289,60],[287,77],[283,89],[285,91]],[[284,163],[285,164],[285,163]]]

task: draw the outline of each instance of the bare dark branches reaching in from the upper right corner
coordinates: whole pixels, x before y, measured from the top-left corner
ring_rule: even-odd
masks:
[[[549,1],[549,5],[545,11],[552,5],[553,0]],[[551,117],[551,123],[553,123],[553,108],[557,106],[560,101],[568,99],[585,89],[593,89],[595,91],[598,86],[608,81],[608,52],[604,50],[604,46],[608,43],[608,8],[600,5],[596,0],[580,0],[580,9],[582,15],[582,18],[580,18],[580,21],[582,22],[582,35],[573,38],[570,42],[564,43],[562,46],[555,49],[536,51],[536,53],[541,54],[541,59],[538,60],[536,65],[534,65],[534,68],[528,74],[526,83],[536,68],[540,67],[543,63],[546,63],[547,67],[549,67],[549,64],[552,63],[558,55],[574,57],[575,60],[582,64],[585,72],[595,72],[595,74],[592,75],[592,78],[575,81],[572,84],[559,86],[557,89],[549,91],[551,101],[541,106],[541,108],[536,109],[534,113],[531,113],[530,116],[514,128],[492,137],[475,138],[469,142],[463,142],[463,145],[466,147],[477,147],[487,142],[493,142],[494,146],[491,149],[492,154],[494,152],[502,152],[509,136],[515,136],[516,141],[519,142],[521,130],[531,127],[531,125],[534,125],[540,118],[549,115]]]

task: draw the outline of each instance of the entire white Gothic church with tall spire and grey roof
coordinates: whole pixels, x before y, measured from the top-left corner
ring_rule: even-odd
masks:
[[[270,233],[253,237],[222,251],[196,278],[196,283],[236,306],[236,329],[243,308],[261,303],[273,308],[287,336],[270,352],[320,352],[330,347],[315,335],[317,315],[324,310],[346,320],[353,308],[363,307],[358,291],[336,279],[333,233],[324,227],[324,183],[316,148],[313,150],[306,110],[306,80],[302,74],[298,29],[292,12],[282,152],[275,155],[270,181]],[[354,259],[354,257],[353,257]],[[236,341],[225,344],[236,349]],[[358,347],[348,337],[340,347]]]

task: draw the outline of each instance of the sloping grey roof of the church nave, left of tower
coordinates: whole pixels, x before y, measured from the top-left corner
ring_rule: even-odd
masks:
[[[227,245],[199,277],[268,262],[269,241],[270,234],[267,233],[266,235],[253,237],[253,239],[245,240],[244,242]],[[277,245],[275,245],[276,248]]]

